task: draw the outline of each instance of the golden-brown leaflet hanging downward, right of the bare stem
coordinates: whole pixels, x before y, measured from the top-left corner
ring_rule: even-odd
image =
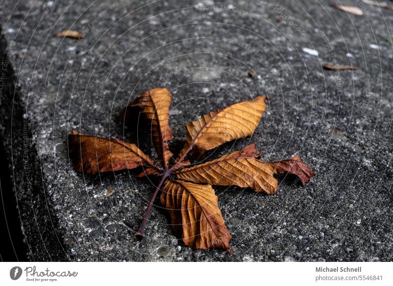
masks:
[[[229,250],[231,235],[210,185],[168,180],[161,202],[168,209],[173,229],[182,233],[185,245]]]

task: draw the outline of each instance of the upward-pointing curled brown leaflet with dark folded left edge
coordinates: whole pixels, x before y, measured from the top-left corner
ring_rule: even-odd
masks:
[[[168,169],[169,159],[173,155],[168,150],[168,141],[173,138],[168,122],[171,102],[172,94],[168,88],[157,87],[144,92],[122,113],[123,119],[132,117],[135,111],[140,113],[142,119],[151,128],[152,141],[158,159],[165,169]]]

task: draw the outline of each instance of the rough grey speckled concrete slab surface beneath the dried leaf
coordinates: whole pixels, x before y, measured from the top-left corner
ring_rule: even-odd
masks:
[[[341,3],[364,15],[308,0],[2,0],[1,64],[10,64],[1,163],[13,186],[2,192],[16,194],[28,259],[392,260],[393,11]],[[55,36],[86,28],[82,40]],[[325,63],[359,69],[336,73]],[[183,145],[185,123],[266,94],[253,137],[208,155],[255,142],[264,160],[299,154],[316,173],[305,187],[281,177],[274,196],[215,187],[231,254],[186,247],[159,200],[136,241],[158,181],[134,171],[83,176],[69,161],[72,129],[138,143],[154,157],[148,134],[117,116],[157,85],[173,93],[172,150]]]

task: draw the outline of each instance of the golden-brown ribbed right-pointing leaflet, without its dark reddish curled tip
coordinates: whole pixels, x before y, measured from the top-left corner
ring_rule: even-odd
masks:
[[[174,175],[194,183],[236,185],[250,187],[257,192],[275,194],[278,181],[273,176],[274,168],[269,163],[256,159],[258,157],[255,144],[251,144],[243,150],[224,155],[219,159],[181,169],[174,172]]]

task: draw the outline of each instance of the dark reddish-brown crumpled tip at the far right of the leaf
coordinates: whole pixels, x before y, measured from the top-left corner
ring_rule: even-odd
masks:
[[[271,165],[277,173],[288,172],[297,175],[302,180],[303,185],[305,185],[314,175],[314,172],[312,172],[310,167],[305,164],[298,155],[290,159],[271,163]]]

